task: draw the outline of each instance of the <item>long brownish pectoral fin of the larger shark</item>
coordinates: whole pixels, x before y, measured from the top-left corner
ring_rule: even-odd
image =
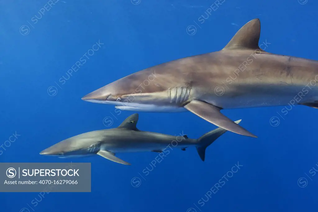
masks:
[[[224,116],[220,109],[208,104],[206,102],[200,101],[191,101],[187,105],[184,106],[185,109],[189,110],[190,112],[196,114],[197,116],[203,118],[204,120],[217,125],[225,130],[238,133],[240,135],[245,135],[253,138],[257,138],[257,136],[253,135],[249,131],[245,130],[240,125],[233,122],[228,117]]]

